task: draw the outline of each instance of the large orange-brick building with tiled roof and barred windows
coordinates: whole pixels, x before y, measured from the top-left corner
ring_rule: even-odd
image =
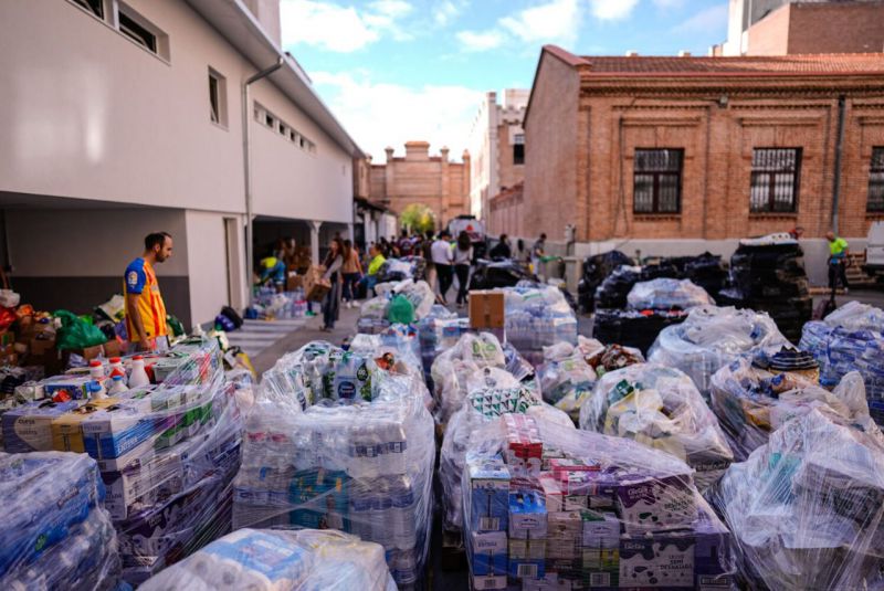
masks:
[[[575,224],[582,252],[722,254],[797,224],[822,236],[840,97],[838,229],[863,239],[884,220],[884,54],[581,57],[547,45],[525,116],[525,233]]]

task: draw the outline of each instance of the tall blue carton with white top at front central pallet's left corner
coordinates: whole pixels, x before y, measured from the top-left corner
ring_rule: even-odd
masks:
[[[499,456],[467,456],[472,531],[506,531],[509,518],[509,471]]]

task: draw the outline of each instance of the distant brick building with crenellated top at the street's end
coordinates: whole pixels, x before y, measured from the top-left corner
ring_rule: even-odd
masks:
[[[412,203],[427,205],[433,211],[436,228],[470,213],[470,152],[463,152],[463,162],[452,162],[448,148],[430,156],[427,141],[407,141],[404,157],[393,156],[392,148],[386,151],[387,163],[371,165],[372,201],[396,213]]]

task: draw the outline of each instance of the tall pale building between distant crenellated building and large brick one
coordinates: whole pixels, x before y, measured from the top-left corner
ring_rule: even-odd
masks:
[[[485,93],[470,131],[470,209],[488,218],[488,200],[525,177],[525,131],[522,119],[530,91],[507,88],[503,104],[497,93]]]

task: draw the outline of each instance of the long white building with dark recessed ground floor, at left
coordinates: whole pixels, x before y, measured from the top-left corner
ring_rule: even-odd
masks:
[[[164,230],[167,308],[203,323],[246,304],[250,246],[316,257],[350,233],[362,154],[280,48],[278,0],[0,2],[0,262],[22,300],[90,309]]]

